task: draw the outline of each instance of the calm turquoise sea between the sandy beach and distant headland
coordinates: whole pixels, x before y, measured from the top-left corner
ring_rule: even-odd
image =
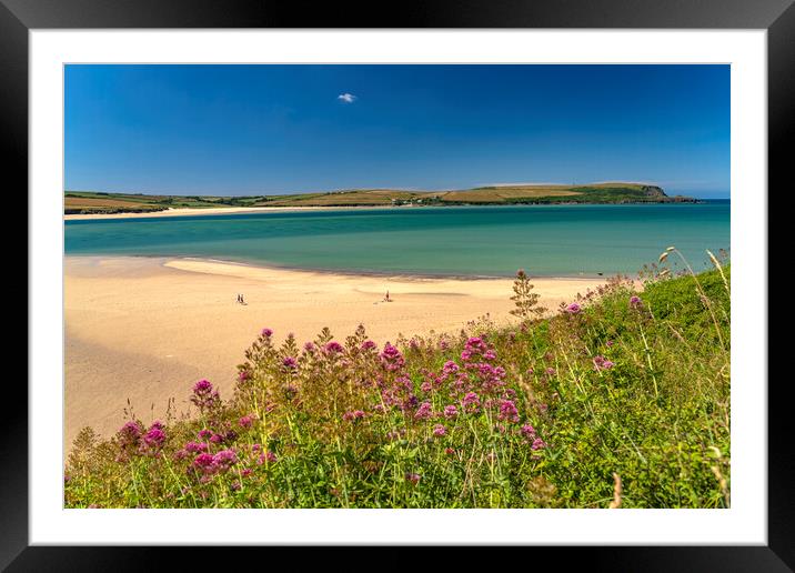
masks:
[[[263,212],[71,220],[66,254],[195,257],[284,268],[455,277],[634,274],[676,245],[729,249],[729,202]]]

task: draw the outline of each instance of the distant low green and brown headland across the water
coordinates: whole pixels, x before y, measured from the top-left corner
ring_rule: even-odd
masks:
[[[442,207],[509,204],[697,203],[692,197],[670,197],[643,183],[607,182],[584,185],[493,185],[455,191],[352,189],[268,195],[157,195],[66,191],[64,214],[150,213],[170,209],[312,208],[312,207]]]

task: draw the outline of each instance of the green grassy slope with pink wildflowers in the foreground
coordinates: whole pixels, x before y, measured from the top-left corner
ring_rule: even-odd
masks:
[[[165,420],[162,444],[134,415],[133,434],[152,444],[83,430],[66,505],[726,507],[723,272],[725,282],[717,270],[657,272],[641,292],[615,278],[578,310],[502,329],[484,318],[455,336],[401,340],[399,351],[368,348],[363,328],[339,349],[328,331],[309,350],[264,332],[234,395],[195,391],[201,409]],[[457,415],[444,415],[450,405]],[[214,471],[198,471],[189,442],[234,462],[221,454]]]

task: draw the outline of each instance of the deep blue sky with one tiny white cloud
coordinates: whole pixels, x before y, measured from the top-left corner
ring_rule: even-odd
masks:
[[[67,190],[729,197],[728,66],[68,66]]]

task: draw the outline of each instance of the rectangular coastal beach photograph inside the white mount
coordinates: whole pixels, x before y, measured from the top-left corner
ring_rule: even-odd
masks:
[[[727,509],[727,64],[67,64],[68,509]]]

